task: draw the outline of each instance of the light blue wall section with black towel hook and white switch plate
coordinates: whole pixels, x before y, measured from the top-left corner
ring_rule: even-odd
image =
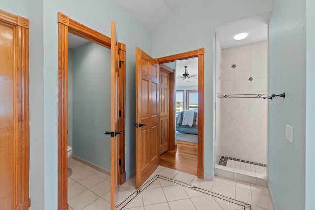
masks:
[[[278,210],[304,209],[305,202],[305,6],[273,0],[269,22],[269,93],[285,92],[285,99],[269,101],[268,180]],[[293,126],[293,144],[286,124]]]

